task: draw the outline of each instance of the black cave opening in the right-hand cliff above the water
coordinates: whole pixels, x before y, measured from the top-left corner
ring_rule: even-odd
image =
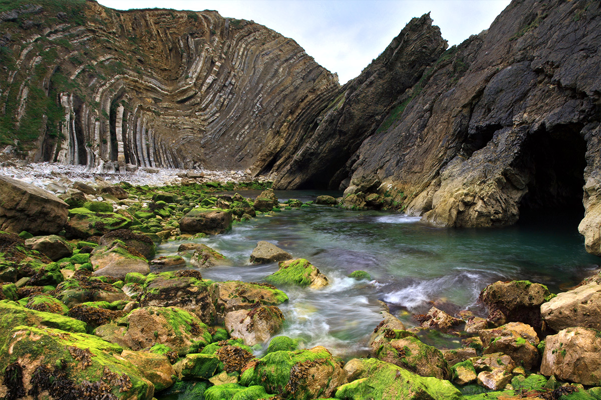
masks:
[[[531,179],[520,202],[520,222],[561,219],[578,225],[584,217],[582,195],[587,143],[582,125],[560,125],[532,134],[523,163]]]

